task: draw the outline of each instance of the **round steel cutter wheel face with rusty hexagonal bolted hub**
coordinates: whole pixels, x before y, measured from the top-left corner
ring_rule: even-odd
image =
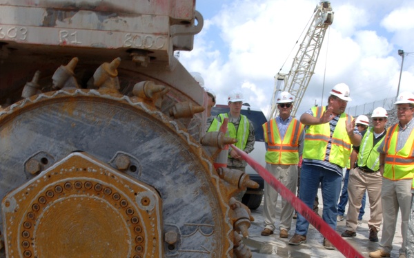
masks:
[[[200,144],[137,98],[73,89],[0,112],[0,217],[19,257],[229,257]]]

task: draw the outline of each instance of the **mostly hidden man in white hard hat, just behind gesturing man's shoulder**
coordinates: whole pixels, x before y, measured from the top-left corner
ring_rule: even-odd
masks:
[[[369,119],[365,115],[358,116],[355,120],[355,126],[357,127],[359,133],[364,132],[369,126]],[[345,208],[346,204],[348,204],[348,179],[349,179],[349,171],[354,169],[355,162],[357,161],[357,153],[356,151],[351,152],[351,157],[349,157],[348,164],[346,164],[346,172],[344,176],[344,184],[342,184],[342,192],[341,196],[339,197],[338,203],[338,215],[337,215],[337,222],[342,222],[344,220],[345,215]],[[365,202],[366,202],[366,195],[362,197],[362,206],[359,209],[358,215],[358,225],[362,224],[362,216],[365,214]]]

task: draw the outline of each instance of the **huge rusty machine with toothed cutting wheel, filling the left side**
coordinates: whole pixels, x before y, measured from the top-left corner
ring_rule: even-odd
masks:
[[[194,0],[0,0],[0,257],[251,257],[253,183],[215,169],[174,57]]]

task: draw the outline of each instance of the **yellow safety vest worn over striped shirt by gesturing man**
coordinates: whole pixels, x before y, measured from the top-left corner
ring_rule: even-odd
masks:
[[[320,118],[326,107],[312,107],[313,116]],[[351,155],[351,139],[346,132],[346,122],[351,123],[352,116],[342,113],[333,131],[331,152],[328,161],[344,168]],[[331,131],[329,122],[322,125],[311,125],[305,133],[303,158],[309,160],[325,160]]]

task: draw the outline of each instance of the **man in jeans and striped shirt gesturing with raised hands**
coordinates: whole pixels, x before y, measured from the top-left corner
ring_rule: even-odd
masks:
[[[333,230],[336,230],[337,224],[342,169],[351,155],[351,144],[359,146],[362,138],[355,129],[353,117],[344,113],[350,100],[348,85],[339,83],[331,90],[326,107],[312,107],[300,118],[300,122],[306,125],[306,134],[299,198],[312,208],[321,185],[324,200],[322,219]],[[309,222],[298,214],[295,235],[290,238],[289,244],[297,246],[306,243],[308,227]],[[323,245],[326,249],[335,249],[328,239],[324,239]]]

